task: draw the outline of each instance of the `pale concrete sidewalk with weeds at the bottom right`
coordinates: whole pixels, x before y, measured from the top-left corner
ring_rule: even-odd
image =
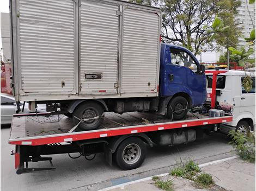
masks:
[[[201,170],[205,173],[212,175],[216,186],[213,186],[208,189],[201,189],[196,186],[196,184],[190,180],[177,178],[170,175],[165,175],[161,177],[161,180],[172,180],[174,183],[175,191],[253,191],[255,190],[255,164],[248,163],[243,161],[241,158],[235,158],[232,160],[204,165],[201,167]],[[147,191],[159,191],[154,184],[154,181],[145,180],[145,181],[135,181],[135,183],[127,184],[125,186],[119,186],[115,188],[105,188],[102,190],[147,190]]]

